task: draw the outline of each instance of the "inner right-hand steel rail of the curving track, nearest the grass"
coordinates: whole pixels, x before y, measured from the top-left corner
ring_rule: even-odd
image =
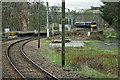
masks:
[[[30,63],[32,63],[36,68],[42,70],[44,73],[46,73],[46,74],[47,74],[48,76],[50,76],[51,78],[53,78],[53,79],[55,79],[55,80],[59,80],[56,76],[54,76],[53,74],[49,73],[48,71],[46,71],[46,70],[43,69],[42,67],[40,67],[38,64],[36,64],[32,59],[30,59],[30,58],[26,55],[26,53],[25,53],[24,50],[23,50],[23,47],[24,47],[25,44],[27,44],[27,43],[30,42],[30,41],[32,41],[32,40],[29,40],[29,41],[27,41],[27,42],[25,42],[24,44],[21,45],[21,52],[22,52],[21,54],[24,55],[24,57],[25,57]]]

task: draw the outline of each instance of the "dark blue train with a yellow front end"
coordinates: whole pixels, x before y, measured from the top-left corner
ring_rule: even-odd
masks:
[[[76,28],[97,28],[96,22],[75,22]]]

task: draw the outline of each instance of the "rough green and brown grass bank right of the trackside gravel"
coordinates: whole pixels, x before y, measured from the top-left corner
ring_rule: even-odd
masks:
[[[61,66],[61,48],[48,47],[50,42],[50,40],[44,41],[44,45],[40,50],[41,54],[49,61]],[[109,58],[108,54],[113,55],[114,53],[104,51],[96,46],[87,46],[84,48],[68,47],[66,48],[65,55],[66,67],[72,68],[80,74],[95,75],[95,78],[112,78],[117,74],[116,65],[118,61],[116,58]],[[100,65],[102,66],[100,67]],[[107,75],[108,73],[110,76]],[[113,74],[115,75],[113,76]]]

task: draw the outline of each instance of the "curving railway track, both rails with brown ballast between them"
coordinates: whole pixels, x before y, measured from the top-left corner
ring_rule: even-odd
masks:
[[[15,71],[24,80],[28,79],[46,79],[58,80],[57,77],[44,70],[33,62],[23,51],[23,46],[33,39],[27,38],[11,44],[7,50],[7,58]]]

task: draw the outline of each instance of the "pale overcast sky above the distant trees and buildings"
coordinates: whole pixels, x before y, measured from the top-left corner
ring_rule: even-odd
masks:
[[[43,0],[49,2],[49,6],[60,5],[62,0]],[[65,0],[66,8],[70,9],[88,9],[90,6],[100,6],[100,0]]]

